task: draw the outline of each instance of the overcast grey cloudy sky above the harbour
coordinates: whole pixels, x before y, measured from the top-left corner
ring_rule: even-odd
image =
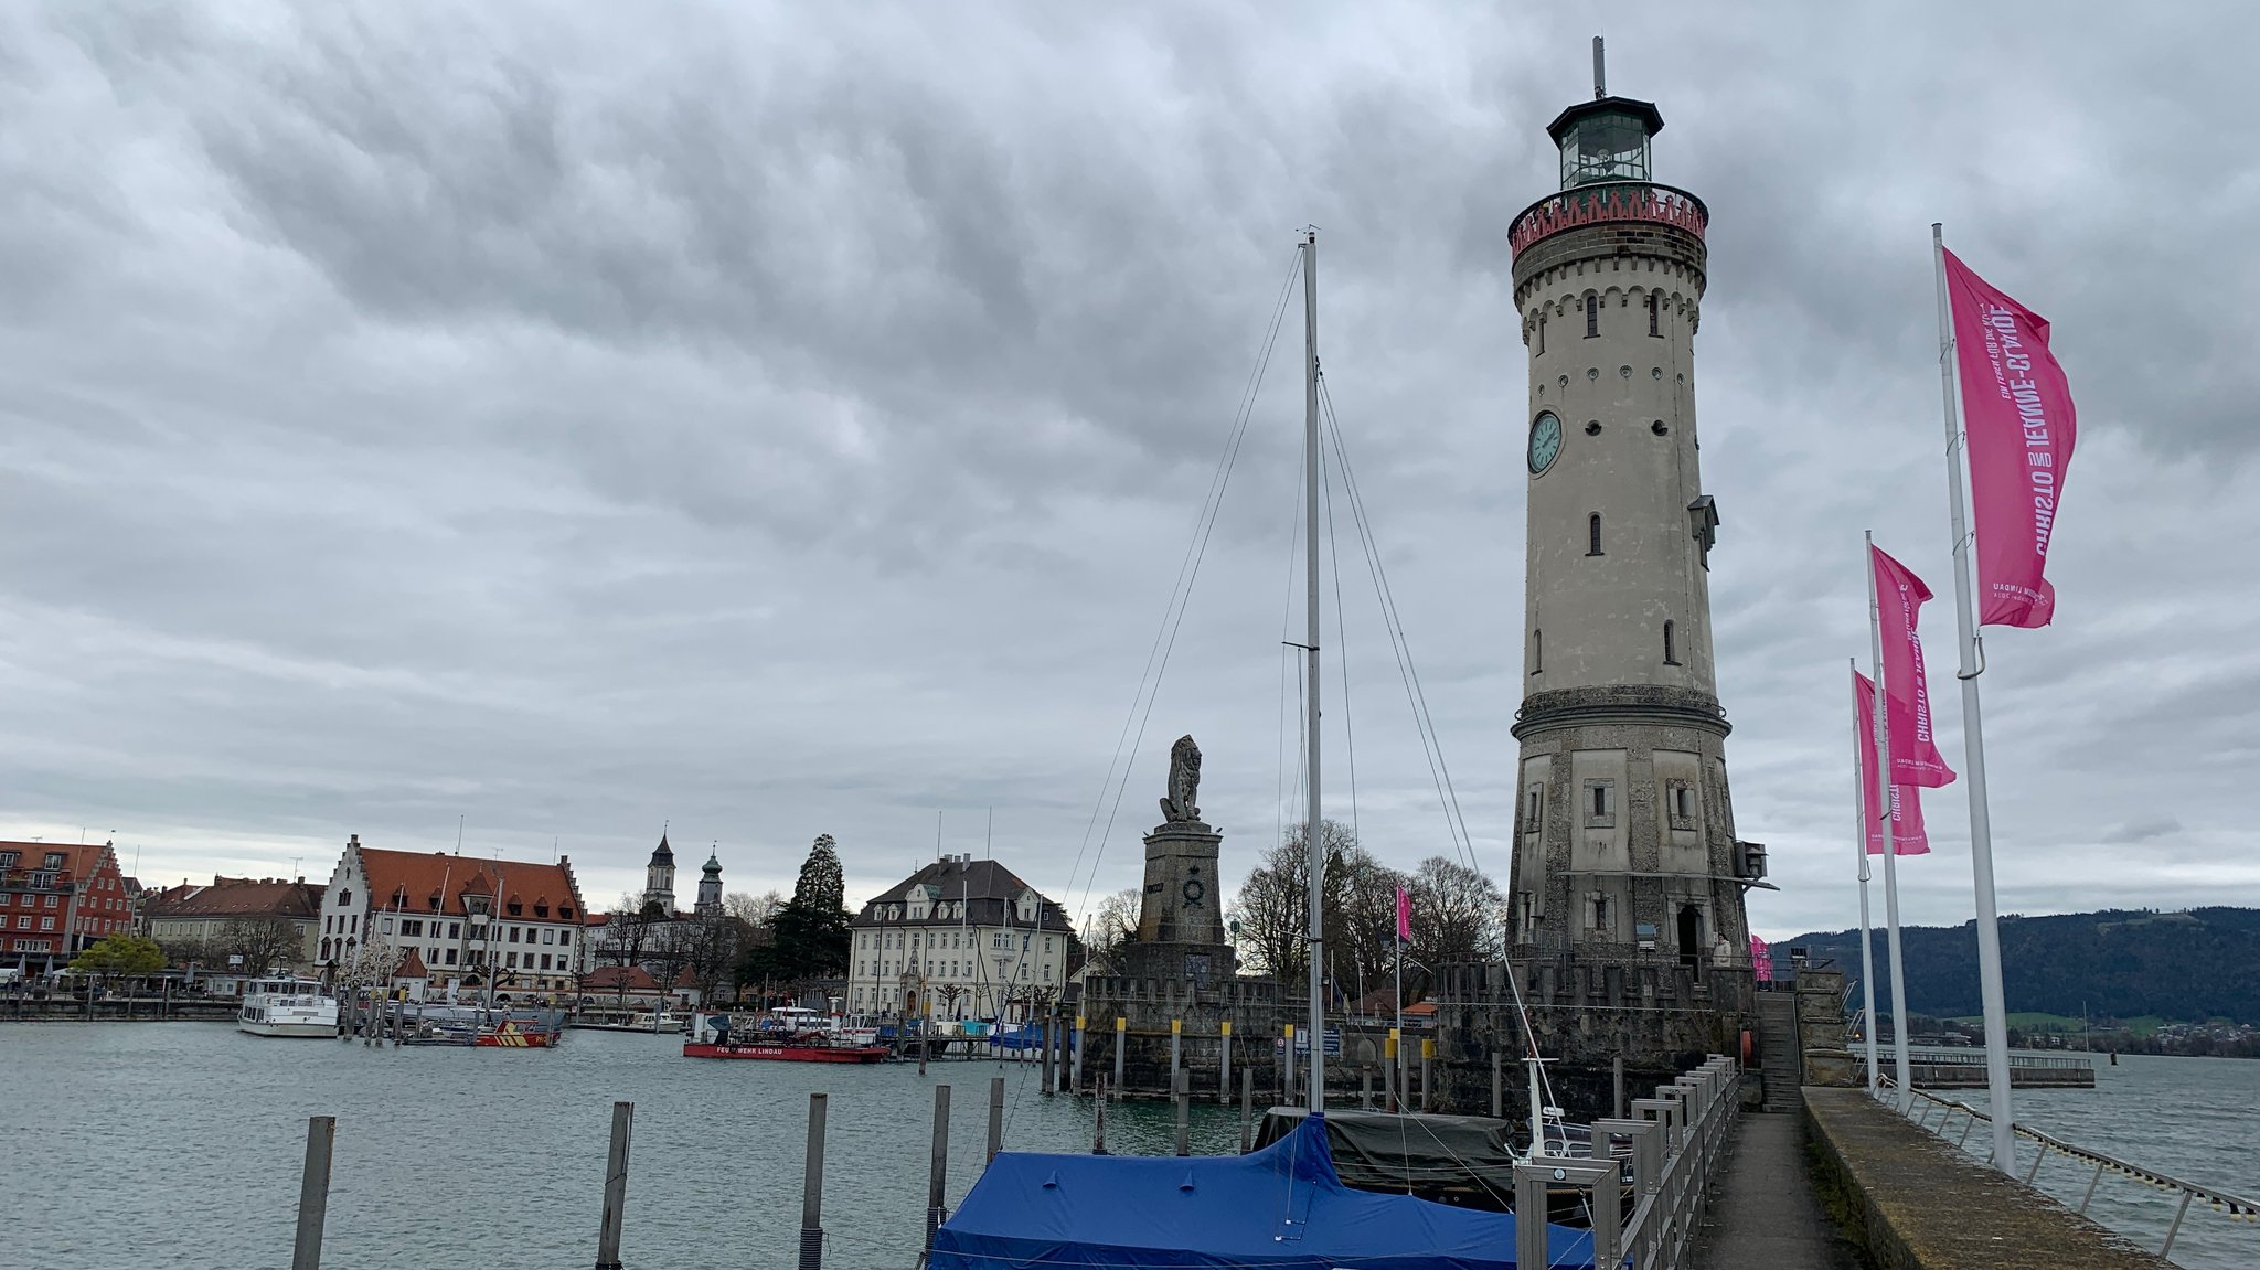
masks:
[[[1989,635],[2002,908],[2260,902],[2260,14],[1598,9],[1609,86],[1668,120],[1657,179],[1713,217],[1718,685],[1736,827],[1783,888],[1754,927],[1853,924],[1862,529],[1941,597],[1966,771],[1932,219],[2054,321],[2081,416],[2057,626]],[[732,890],[789,888],[829,832],[861,899],[938,829],[985,850],[994,809],[997,859],[1076,906],[1137,881],[1191,732],[1243,875],[1293,782],[1293,321],[1119,816],[1103,782],[1315,224],[1354,472],[1503,877],[1505,228],[1557,183],[1541,129],[1589,93],[1596,29],[1582,5],[0,9],[0,838],[115,832],[145,881],[325,877],[346,834],[452,850],[461,818],[466,854],[554,847],[606,906],[662,823],[685,875],[719,843]],[[1451,836],[1347,511],[1340,542],[1327,716],[1365,843],[1410,865]],[[1905,915],[1966,920],[1962,786],[1928,818]]]

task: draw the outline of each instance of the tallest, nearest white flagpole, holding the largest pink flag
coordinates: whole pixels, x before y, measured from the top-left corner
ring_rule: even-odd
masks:
[[[1993,814],[1984,793],[1984,725],[1977,712],[1977,615],[1971,608],[1968,508],[1962,495],[1964,436],[1955,411],[1955,321],[1946,298],[1946,226],[1930,221],[1930,264],[1939,289],[1939,398],[1946,407],[1946,490],[1955,533],[1955,649],[1962,680],[1962,762],[1971,800],[1971,881],[1977,890],[1977,994],[1984,1001],[1984,1082],[1993,1116],[1993,1166],[2016,1173],[2016,1119],[2009,1110],[2009,1006],[2000,985],[2000,904],[1993,897]]]

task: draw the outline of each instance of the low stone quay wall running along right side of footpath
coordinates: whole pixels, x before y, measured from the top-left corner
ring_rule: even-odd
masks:
[[[1860,1089],[1803,1089],[1815,1189],[1876,1270],[2172,1270]]]

